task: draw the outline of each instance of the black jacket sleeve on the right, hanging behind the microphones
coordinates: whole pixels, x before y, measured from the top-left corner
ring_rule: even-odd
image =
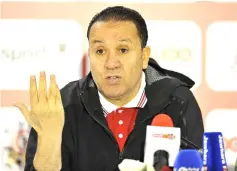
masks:
[[[182,114],[186,118],[187,138],[202,147],[204,133],[202,112],[193,93],[187,87],[179,87],[176,94],[183,100]]]

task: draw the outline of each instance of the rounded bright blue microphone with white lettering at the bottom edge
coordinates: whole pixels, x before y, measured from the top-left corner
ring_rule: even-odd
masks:
[[[174,171],[201,171],[201,169],[202,158],[197,150],[185,149],[179,152],[174,163]]]

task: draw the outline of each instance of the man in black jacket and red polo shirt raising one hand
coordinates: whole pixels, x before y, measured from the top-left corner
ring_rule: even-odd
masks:
[[[66,85],[62,101],[55,77],[46,92],[41,73],[38,90],[31,77],[31,111],[16,104],[34,128],[25,171],[114,171],[123,159],[143,161],[146,126],[159,113],[202,145],[202,115],[189,90],[194,82],[149,58],[138,12],[106,8],[91,20],[87,37],[91,72]]]

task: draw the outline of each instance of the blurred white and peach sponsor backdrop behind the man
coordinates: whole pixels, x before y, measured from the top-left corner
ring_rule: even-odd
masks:
[[[152,57],[191,77],[206,131],[221,131],[237,158],[237,0],[0,1],[0,171],[20,171],[29,125],[29,76],[46,70],[62,88],[89,70],[86,30],[102,9],[124,5],[146,19]]]

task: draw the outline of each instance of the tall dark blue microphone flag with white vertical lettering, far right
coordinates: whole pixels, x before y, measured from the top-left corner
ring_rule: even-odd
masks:
[[[227,171],[225,148],[221,132],[203,135],[203,171]]]

